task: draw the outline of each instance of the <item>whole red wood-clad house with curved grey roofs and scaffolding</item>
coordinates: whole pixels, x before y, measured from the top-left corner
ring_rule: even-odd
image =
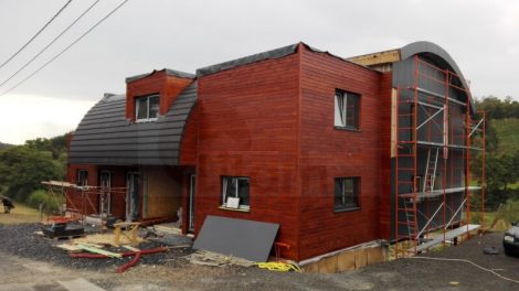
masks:
[[[348,60],[297,43],[126,83],[81,121],[67,172],[124,191],[71,208],[195,236],[208,215],[276,223],[296,261],[463,223],[475,111],[433,43]]]

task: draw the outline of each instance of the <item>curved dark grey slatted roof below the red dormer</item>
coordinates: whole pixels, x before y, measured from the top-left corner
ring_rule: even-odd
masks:
[[[197,103],[197,82],[152,122],[126,119],[126,96],[105,96],[83,118],[71,141],[74,164],[178,165],[183,131]]]

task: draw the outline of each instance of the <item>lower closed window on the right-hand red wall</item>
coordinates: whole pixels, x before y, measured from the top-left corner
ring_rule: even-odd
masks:
[[[359,177],[336,177],[333,209],[353,211],[359,208]]]

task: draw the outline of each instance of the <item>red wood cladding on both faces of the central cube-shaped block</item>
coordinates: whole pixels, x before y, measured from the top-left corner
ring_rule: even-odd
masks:
[[[197,223],[280,224],[290,259],[380,238],[381,74],[307,51],[199,79]],[[361,131],[333,127],[336,88],[361,95]],[[219,209],[221,176],[251,177],[251,212]],[[333,179],[360,176],[360,211],[333,212]]]

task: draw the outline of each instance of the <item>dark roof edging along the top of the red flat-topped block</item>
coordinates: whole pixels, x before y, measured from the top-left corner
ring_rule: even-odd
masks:
[[[212,65],[212,66],[202,67],[202,68],[197,69],[197,76],[201,77],[201,76],[204,76],[204,75],[214,74],[214,73],[218,73],[218,72],[221,72],[221,71],[225,71],[225,69],[230,69],[230,68],[233,68],[233,67],[243,66],[243,65],[247,65],[247,64],[252,64],[252,63],[256,63],[256,62],[261,62],[261,61],[265,61],[265,60],[280,58],[280,57],[284,57],[284,56],[296,53],[297,52],[297,46],[299,44],[303,44],[305,47],[307,47],[308,50],[310,50],[313,52],[327,54],[327,55],[337,57],[337,58],[339,58],[343,62],[348,62],[348,63],[354,64],[357,66],[361,66],[361,67],[364,67],[367,69],[373,71],[370,67],[359,65],[359,64],[357,64],[354,62],[351,62],[349,60],[346,60],[343,57],[333,55],[333,54],[331,54],[327,51],[321,51],[321,50],[311,47],[306,43],[299,42],[299,43],[290,44],[290,45],[283,46],[283,47],[279,47],[279,48],[276,48],[276,50],[272,50],[272,51],[267,51],[267,52],[263,52],[263,53],[258,53],[258,54],[253,54],[253,55],[245,56],[245,57],[240,57],[240,58],[236,58],[236,60],[233,60],[233,61],[220,63],[220,64]]]

